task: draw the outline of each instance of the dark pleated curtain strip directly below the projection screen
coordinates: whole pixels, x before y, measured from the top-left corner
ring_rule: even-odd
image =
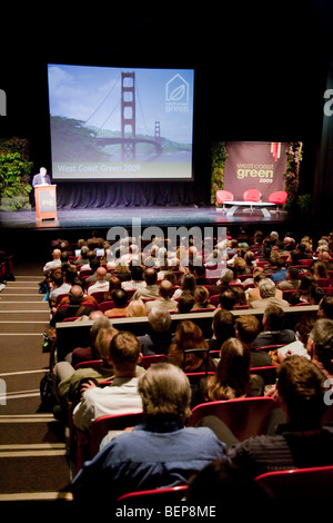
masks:
[[[204,205],[205,190],[193,181],[95,181],[57,184],[58,208]]]

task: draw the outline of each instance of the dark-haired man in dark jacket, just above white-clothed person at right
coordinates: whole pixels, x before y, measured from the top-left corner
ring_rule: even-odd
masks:
[[[266,345],[286,345],[296,341],[295,332],[283,328],[285,313],[276,305],[265,308],[262,317],[263,332],[253,342],[253,348]]]

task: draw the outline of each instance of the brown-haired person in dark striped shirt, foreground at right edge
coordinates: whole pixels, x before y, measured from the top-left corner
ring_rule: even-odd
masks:
[[[275,398],[287,423],[276,435],[254,436],[229,448],[236,466],[259,474],[333,464],[333,431],[322,426],[324,375],[303,356],[285,358],[278,368]]]

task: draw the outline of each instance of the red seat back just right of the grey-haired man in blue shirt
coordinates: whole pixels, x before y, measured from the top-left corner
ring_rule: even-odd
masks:
[[[251,436],[265,434],[274,407],[276,403],[269,396],[202,403],[192,409],[186,426],[195,426],[204,416],[216,416],[243,442]]]

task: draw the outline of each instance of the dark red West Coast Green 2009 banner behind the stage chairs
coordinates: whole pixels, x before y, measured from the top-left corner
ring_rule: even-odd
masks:
[[[262,201],[275,190],[284,190],[286,142],[226,141],[224,189],[243,200],[246,189],[259,189]]]

